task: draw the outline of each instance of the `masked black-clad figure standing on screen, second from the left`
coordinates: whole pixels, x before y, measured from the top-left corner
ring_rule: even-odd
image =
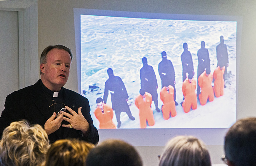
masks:
[[[152,95],[152,100],[155,103],[157,112],[160,112],[158,108],[158,95],[157,95],[157,78],[152,66],[148,65],[146,57],[142,58],[143,67],[140,70],[140,85],[141,88]]]

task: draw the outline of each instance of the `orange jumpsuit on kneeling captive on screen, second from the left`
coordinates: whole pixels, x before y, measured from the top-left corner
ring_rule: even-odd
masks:
[[[152,96],[150,93],[146,92],[145,101],[142,95],[138,95],[135,99],[135,105],[139,108],[140,116],[140,128],[144,129],[147,126],[147,120],[149,126],[155,125],[155,119],[153,116],[153,111],[151,109]]]

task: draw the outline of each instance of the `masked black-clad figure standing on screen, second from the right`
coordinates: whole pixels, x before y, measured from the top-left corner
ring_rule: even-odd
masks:
[[[201,41],[201,48],[197,51],[198,66],[197,66],[197,80],[198,77],[204,72],[205,69],[210,69],[210,58],[208,49],[204,48],[205,42]],[[197,81],[197,96],[200,94],[200,86]]]

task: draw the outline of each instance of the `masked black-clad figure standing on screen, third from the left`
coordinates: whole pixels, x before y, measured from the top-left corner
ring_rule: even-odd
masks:
[[[162,89],[164,86],[172,85],[174,88],[174,101],[175,105],[179,105],[176,102],[176,89],[175,89],[175,72],[172,61],[167,59],[166,52],[162,53],[162,61],[158,64],[158,72],[162,81]]]

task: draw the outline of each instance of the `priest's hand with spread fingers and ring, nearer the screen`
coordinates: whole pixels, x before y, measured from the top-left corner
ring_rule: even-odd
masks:
[[[65,108],[71,114],[64,112],[65,117],[63,117],[63,120],[67,121],[70,124],[69,125],[62,125],[62,127],[73,128],[75,130],[80,130],[83,133],[83,135],[86,136],[87,131],[89,129],[89,123],[84,118],[84,116],[81,112],[82,107],[78,108],[78,110],[77,110],[78,114],[74,110],[69,108],[68,106],[65,106]]]

